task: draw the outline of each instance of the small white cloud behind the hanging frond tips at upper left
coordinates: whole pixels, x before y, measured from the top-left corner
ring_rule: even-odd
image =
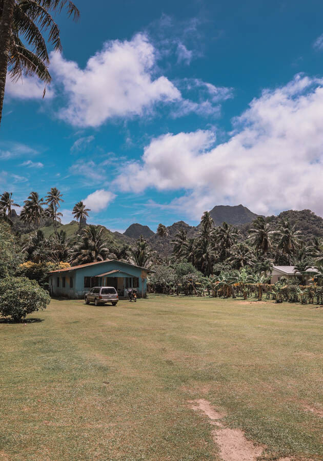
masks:
[[[6,79],[6,95],[17,99],[42,99],[44,94],[44,83],[37,77],[24,77],[13,82],[10,75]],[[51,99],[54,91],[46,87],[46,99]]]

